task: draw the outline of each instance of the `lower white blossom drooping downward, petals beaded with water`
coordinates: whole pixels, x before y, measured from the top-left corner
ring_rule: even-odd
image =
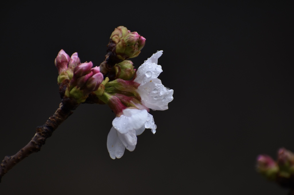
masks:
[[[112,121],[113,127],[107,136],[107,149],[112,159],[121,158],[127,148],[135,150],[137,135],[143,133],[145,128],[155,132],[156,125],[153,116],[147,110],[125,109],[120,117]]]

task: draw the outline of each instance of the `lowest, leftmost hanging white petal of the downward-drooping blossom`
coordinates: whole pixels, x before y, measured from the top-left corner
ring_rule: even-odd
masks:
[[[126,147],[118,138],[117,131],[114,127],[112,127],[108,133],[106,145],[112,159],[121,158],[123,156]]]

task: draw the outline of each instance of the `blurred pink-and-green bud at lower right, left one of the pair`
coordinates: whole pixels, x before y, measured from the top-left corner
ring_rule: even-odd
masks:
[[[279,167],[276,162],[268,155],[258,155],[257,171],[270,180],[275,180]]]

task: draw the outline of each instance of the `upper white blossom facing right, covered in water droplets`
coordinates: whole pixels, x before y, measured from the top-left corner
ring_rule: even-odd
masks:
[[[137,70],[134,81],[140,83],[137,91],[141,96],[142,104],[152,110],[167,110],[168,103],[173,100],[173,90],[164,87],[157,77],[162,72],[157,64],[162,50],[148,58]]]

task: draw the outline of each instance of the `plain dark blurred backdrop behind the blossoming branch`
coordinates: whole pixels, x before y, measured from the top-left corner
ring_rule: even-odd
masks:
[[[59,50],[98,66],[120,25],[146,38],[136,68],[163,50],[159,78],[174,100],[150,111],[156,134],[116,160],[106,148],[114,114],[80,105],[2,178],[1,195],[287,194],[255,161],[294,151],[293,1],[191,2],[2,3],[1,159],[58,108]]]

